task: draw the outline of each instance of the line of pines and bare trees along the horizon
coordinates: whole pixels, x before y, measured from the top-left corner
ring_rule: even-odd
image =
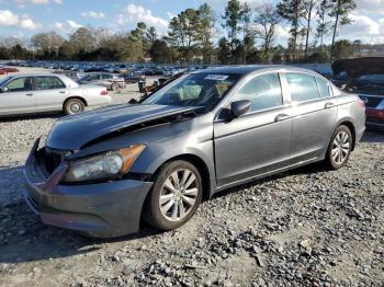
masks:
[[[341,25],[351,23],[355,0],[280,0],[251,9],[229,0],[223,14],[203,3],[171,19],[168,32],[137,23],[132,31],[111,34],[102,27],[79,27],[64,38],[39,33],[30,43],[0,41],[2,59],[144,61],[159,64],[328,62],[349,56],[352,43],[336,41]],[[290,25],[285,47],[276,45],[279,30]],[[217,35],[222,35],[218,37]],[[325,38],[331,38],[325,45]]]

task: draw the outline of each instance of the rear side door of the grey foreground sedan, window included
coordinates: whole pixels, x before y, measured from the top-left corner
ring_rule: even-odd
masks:
[[[315,160],[335,129],[337,101],[328,82],[305,72],[284,73],[293,105],[292,164]]]

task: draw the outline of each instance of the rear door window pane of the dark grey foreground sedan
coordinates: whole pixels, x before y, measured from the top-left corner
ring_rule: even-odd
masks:
[[[285,78],[293,102],[306,102],[320,97],[314,76],[307,73],[287,72]]]

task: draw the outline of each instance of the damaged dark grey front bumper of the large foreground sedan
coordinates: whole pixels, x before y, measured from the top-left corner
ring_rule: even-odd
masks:
[[[142,207],[153,183],[114,181],[100,184],[58,184],[66,167],[45,177],[36,160],[36,146],[24,169],[25,202],[49,226],[111,238],[139,230]]]

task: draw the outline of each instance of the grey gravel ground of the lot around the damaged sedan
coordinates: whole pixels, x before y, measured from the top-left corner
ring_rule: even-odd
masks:
[[[114,95],[137,96],[136,85]],[[182,228],[91,240],[46,227],[22,165],[59,115],[0,122],[0,286],[383,286],[384,135],[318,164],[221,193]]]

